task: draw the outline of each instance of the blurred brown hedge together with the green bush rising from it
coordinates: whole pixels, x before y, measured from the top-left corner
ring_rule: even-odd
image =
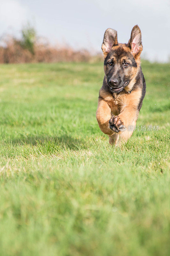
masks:
[[[102,60],[101,55],[92,56],[87,50],[75,51],[68,46],[55,47],[37,39],[35,29],[27,24],[20,40],[5,36],[0,46],[0,63],[59,62]],[[44,41],[44,40],[43,40]]]

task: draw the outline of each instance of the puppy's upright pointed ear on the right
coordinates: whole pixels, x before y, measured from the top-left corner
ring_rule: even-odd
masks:
[[[142,35],[140,28],[137,25],[132,28],[128,46],[133,56],[137,56],[138,54],[140,55],[142,52]]]

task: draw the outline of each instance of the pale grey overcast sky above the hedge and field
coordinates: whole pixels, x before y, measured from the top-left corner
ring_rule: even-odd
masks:
[[[143,56],[170,59],[169,0],[0,0],[0,36],[19,35],[27,20],[53,44],[95,52],[101,51],[107,28],[117,30],[119,43],[127,43],[138,24]]]

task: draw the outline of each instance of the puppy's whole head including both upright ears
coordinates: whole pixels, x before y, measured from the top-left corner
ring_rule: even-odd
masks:
[[[111,92],[121,92],[136,77],[142,52],[142,36],[136,25],[128,44],[118,44],[117,31],[107,28],[103,38],[104,71]]]

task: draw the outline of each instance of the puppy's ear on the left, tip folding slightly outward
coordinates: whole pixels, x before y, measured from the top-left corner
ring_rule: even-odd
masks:
[[[107,28],[104,34],[103,44],[101,46],[104,57],[106,57],[112,47],[117,44],[117,31],[112,28]]]

